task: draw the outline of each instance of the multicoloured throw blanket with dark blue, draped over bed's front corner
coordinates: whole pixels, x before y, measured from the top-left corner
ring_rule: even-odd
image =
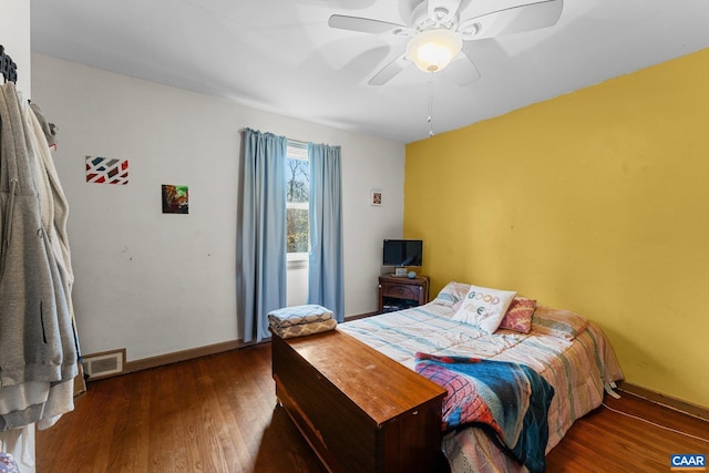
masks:
[[[443,430],[482,424],[531,473],[546,469],[546,414],[554,388],[532,368],[505,361],[417,353],[415,371],[448,390]]]

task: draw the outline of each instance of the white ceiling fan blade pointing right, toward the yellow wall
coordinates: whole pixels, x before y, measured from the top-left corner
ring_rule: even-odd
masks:
[[[461,23],[463,39],[501,37],[538,30],[556,24],[564,10],[564,0],[542,0],[494,11]]]

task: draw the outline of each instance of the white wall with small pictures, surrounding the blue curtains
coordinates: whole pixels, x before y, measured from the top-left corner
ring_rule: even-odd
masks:
[[[45,55],[33,101],[59,127],[74,305],[84,354],[129,361],[239,338],[236,214],[240,130],[342,147],[346,316],[377,308],[381,240],[402,234],[404,146]],[[86,155],[130,161],[125,186],[85,183]],[[189,186],[162,214],[161,185]],[[370,189],[384,205],[369,205]]]

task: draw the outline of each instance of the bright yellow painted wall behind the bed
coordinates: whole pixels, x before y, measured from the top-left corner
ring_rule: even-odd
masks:
[[[709,49],[407,146],[404,235],[574,310],[626,380],[709,407]]]

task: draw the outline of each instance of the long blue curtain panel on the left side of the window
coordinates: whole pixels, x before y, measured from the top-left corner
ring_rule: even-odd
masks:
[[[237,318],[245,342],[270,337],[268,312],[286,306],[285,136],[244,130],[237,235]]]

